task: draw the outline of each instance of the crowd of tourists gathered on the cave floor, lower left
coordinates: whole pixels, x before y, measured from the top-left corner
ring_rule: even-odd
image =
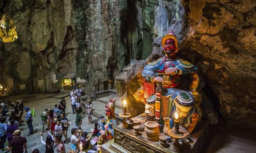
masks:
[[[94,128],[91,131],[84,132],[81,128],[82,125],[82,105],[81,105],[81,92],[78,87],[70,92],[70,104],[72,113],[76,113],[75,123],[70,125],[71,121],[66,116],[66,100],[62,97],[58,105],[54,105],[53,109],[44,109],[41,113],[42,120],[42,132],[41,142],[45,146],[45,153],[53,153],[56,147],[57,153],[66,153],[65,143],[71,143],[69,152],[78,153],[82,146],[82,150],[87,153],[94,153],[97,151],[97,135],[99,135],[98,122],[95,122]],[[10,104],[8,107],[4,102],[1,103],[1,118],[0,118],[0,149],[6,152],[12,151],[12,153],[25,153],[27,149],[27,139],[22,137],[19,127],[24,126],[23,122],[27,123],[29,135],[33,135],[33,113],[29,107],[25,107],[22,99],[17,100]],[[23,110],[25,120],[22,120]],[[85,105],[85,114],[88,116],[87,124],[92,123],[92,100],[87,99]],[[103,117],[102,117],[103,118]],[[70,141],[68,139],[68,128],[71,126]],[[47,134],[46,140],[43,139],[43,135]],[[62,140],[62,135],[64,139]],[[95,137],[92,139],[92,137]],[[6,141],[7,139],[7,141]],[[92,140],[91,140],[92,139]],[[8,143],[7,143],[8,142]],[[14,147],[15,146],[15,147]],[[39,149],[34,149],[32,153],[40,153]]]

